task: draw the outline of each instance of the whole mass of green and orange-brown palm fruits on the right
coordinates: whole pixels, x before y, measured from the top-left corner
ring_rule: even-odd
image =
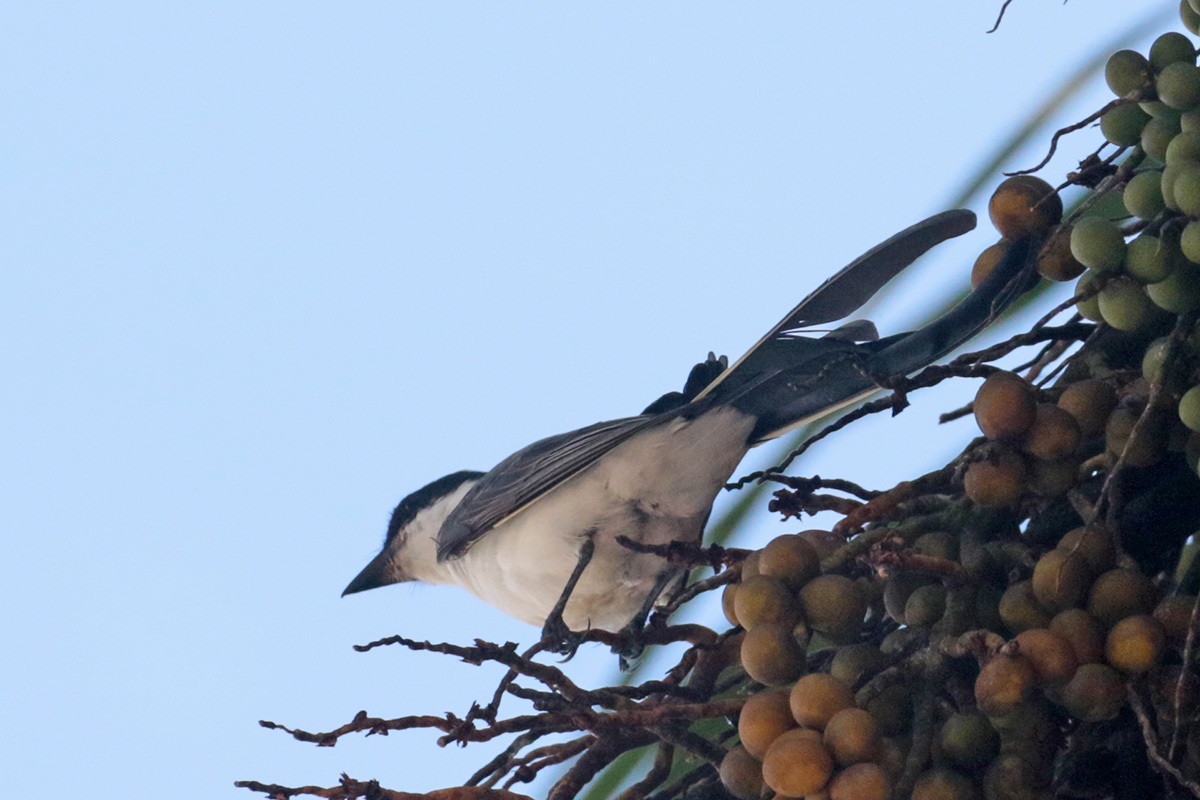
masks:
[[[1200,777],[1200,579],[1177,569],[1200,527],[1200,67],[1171,32],[1105,77],[1100,130],[1126,158],[1067,221],[1049,184],[1006,180],[972,271],[1033,240],[1098,325],[1072,323],[1087,342],[1042,385],[990,371],[984,435],[936,493],[742,563],[722,597],[750,681],[720,768],[734,796],[1103,796],[1104,770],[1063,754],[1120,730],[1141,763],[1158,732]],[[1117,193],[1128,217],[1105,211]]]

